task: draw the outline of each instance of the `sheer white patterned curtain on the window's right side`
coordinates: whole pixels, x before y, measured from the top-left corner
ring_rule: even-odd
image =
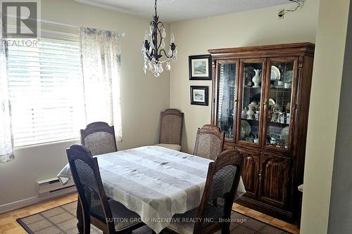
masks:
[[[123,34],[80,29],[87,124],[107,122],[122,141],[120,106],[120,38]]]

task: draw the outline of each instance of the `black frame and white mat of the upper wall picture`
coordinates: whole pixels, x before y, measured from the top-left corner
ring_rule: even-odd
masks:
[[[199,62],[206,61],[204,69],[204,74],[196,74],[196,71],[194,70],[195,67],[193,67],[194,62],[199,60]],[[211,55],[206,54],[203,56],[189,56],[188,57],[188,67],[189,67],[189,80],[211,80]],[[201,71],[201,70],[200,70]],[[199,72],[199,71],[198,71]]]

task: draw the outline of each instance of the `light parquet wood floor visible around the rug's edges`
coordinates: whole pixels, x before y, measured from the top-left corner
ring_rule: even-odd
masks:
[[[22,209],[16,209],[13,212],[8,212],[4,214],[0,214],[0,233],[1,234],[25,234],[27,233],[16,221],[16,219],[24,216],[29,216],[30,214],[36,214],[38,212],[43,212],[46,209],[58,207],[61,204],[66,204],[69,202],[73,202],[77,200],[77,195],[66,195],[63,197],[58,197],[53,200],[48,200],[46,202],[40,202],[38,204],[34,204],[30,207],[25,207]],[[251,216],[255,219],[263,221],[264,223],[269,223],[272,226],[276,226],[278,228],[282,228],[284,230],[288,230],[291,233],[299,234],[299,230],[296,226],[281,221],[279,219],[272,218],[266,214],[262,214],[260,212],[256,212],[253,209],[249,209],[247,207],[243,207],[239,204],[234,204],[234,210],[241,213],[246,214],[247,216]]]

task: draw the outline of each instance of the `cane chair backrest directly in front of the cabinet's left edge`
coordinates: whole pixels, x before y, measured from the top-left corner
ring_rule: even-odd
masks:
[[[197,131],[193,155],[215,160],[222,151],[224,140],[225,133],[218,126],[206,124]]]

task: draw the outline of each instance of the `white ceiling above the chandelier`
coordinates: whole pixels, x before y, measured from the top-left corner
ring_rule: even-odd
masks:
[[[154,0],[75,0],[84,4],[151,19]],[[289,0],[158,0],[160,20],[177,22],[268,6],[288,4]]]

